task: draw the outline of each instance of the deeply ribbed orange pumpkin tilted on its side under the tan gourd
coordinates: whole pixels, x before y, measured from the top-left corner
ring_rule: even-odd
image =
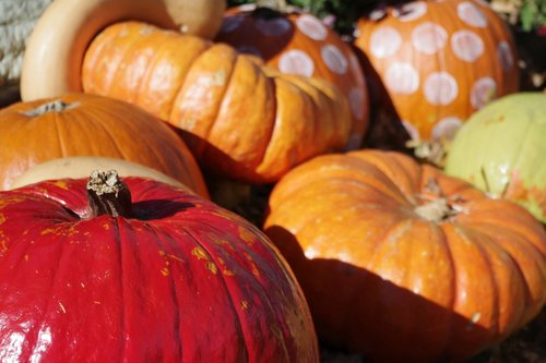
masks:
[[[329,82],[143,23],[104,29],[87,48],[82,82],[168,121],[203,168],[245,182],[276,181],[349,137],[348,104]]]

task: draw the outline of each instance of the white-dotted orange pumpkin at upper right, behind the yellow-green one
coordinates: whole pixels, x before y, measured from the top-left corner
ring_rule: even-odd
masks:
[[[370,90],[387,90],[414,140],[450,138],[477,109],[518,90],[512,35],[485,1],[377,9],[355,36],[382,83]]]

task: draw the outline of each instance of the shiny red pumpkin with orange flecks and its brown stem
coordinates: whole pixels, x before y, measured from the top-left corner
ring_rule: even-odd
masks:
[[[115,171],[0,192],[0,358],[318,362],[308,306],[258,228]]]

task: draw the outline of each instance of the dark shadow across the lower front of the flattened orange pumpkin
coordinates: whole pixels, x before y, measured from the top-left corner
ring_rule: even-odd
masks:
[[[287,258],[320,341],[366,362],[464,362],[498,342],[492,331],[380,276],[339,259],[308,259],[282,227],[265,233]]]

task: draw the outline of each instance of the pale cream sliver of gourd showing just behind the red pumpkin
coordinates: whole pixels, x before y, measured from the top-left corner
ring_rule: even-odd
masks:
[[[120,178],[151,178],[191,192],[190,189],[180,183],[178,180],[173,179],[155,169],[123,159],[102,156],[72,156],[40,162],[26,170],[17,179],[15,179],[11,184],[11,189],[34,184],[44,180],[86,178],[92,170],[97,169],[115,169]]]

